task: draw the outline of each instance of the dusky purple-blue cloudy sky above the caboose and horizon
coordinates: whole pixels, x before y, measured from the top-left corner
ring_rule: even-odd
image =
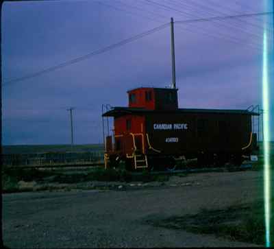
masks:
[[[127,91],[171,85],[170,27],[25,80],[131,38],[175,24],[180,108],[262,105],[262,34],[269,41],[274,140],[273,16],[176,23],[272,10],[258,0],[94,0],[5,2],[2,32],[2,144],[102,143],[101,105],[127,106]],[[14,80],[14,81],[12,81]]]

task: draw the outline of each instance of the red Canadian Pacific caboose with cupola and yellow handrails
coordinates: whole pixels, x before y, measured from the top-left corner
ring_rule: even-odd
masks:
[[[125,161],[127,169],[174,166],[174,157],[224,164],[251,154],[256,134],[249,110],[178,108],[176,88],[128,91],[129,106],[114,107],[114,136],[105,139],[105,168]],[[114,142],[114,143],[113,143]]]

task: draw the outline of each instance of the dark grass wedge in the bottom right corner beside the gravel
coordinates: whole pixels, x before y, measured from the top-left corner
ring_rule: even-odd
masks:
[[[271,217],[271,222],[274,222]],[[214,234],[233,241],[265,244],[264,204],[231,206],[223,210],[201,209],[196,215],[152,221],[153,226],[182,229],[191,233]],[[274,235],[274,228],[271,230]]]

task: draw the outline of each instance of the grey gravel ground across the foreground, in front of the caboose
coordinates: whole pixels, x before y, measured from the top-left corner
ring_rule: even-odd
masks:
[[[131,183],[132,184],[132,183]],[[3,242],[11,248],[256,246],[153,227],[147,220],[262,200],[262,172],[172,176],[164,185],[3,194]],[[153,187],[151,187],[151,185]]]

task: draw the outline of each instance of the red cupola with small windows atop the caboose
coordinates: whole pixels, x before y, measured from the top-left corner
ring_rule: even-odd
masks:
[[[135,88],[127,91],[129,108],[148,110],[176,110],[178,108],[176,88]]]

